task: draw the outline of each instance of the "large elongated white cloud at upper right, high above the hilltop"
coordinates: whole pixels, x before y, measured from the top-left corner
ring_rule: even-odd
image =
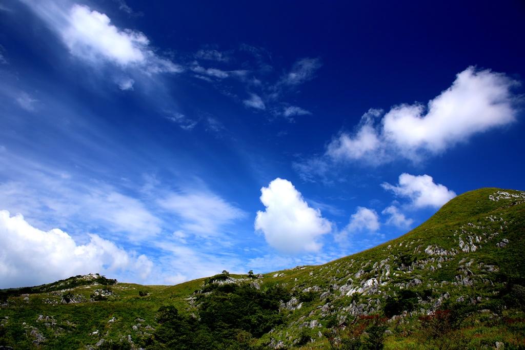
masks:
[[[517,84],[502,73],[468,67],[427,105],[397,105],[382,118],[378,110],[365,113],[357,130],[341,133],[325,155],[333,161],[383,163],[444,152],[474,134],[515,121],[512,88]]]

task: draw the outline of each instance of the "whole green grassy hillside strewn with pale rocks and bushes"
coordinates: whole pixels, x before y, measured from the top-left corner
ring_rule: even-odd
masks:
[[[524,233],[525,192],[483,188],[322,266],[3,290],[0,348],[525,348]]]

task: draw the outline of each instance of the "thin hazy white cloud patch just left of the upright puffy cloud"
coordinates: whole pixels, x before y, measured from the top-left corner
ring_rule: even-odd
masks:
[[[205,192],[172,193],[159,200],[159,205],[181,218],[182,229],[203,236],[220,235],[224,226],[246,215],[223,198]]]

